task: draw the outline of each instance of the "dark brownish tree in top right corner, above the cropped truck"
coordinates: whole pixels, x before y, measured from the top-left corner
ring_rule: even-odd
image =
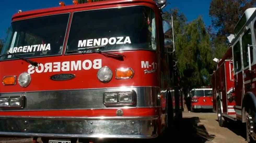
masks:
[[[209,15],[218,35],[234,34],[234,28],[246,9],[254,7],[256,0],[212,0]]]

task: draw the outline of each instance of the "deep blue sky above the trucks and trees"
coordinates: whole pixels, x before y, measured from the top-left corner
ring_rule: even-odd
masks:
[[[62,0],[66,5],[72,4],[72,0]],[[211,0],[167,0],[170,4],[165,8],[178,8],[185,14],[188,21],[196,19],[199,15],[203,17],[206,25],[211,24],[209,18],[209,6]],[[59,0],[0,0],[0,39],[6,37],[6,31],[11,23],[11,17],[18,10],[27,11],[40,8],[59,6]]]

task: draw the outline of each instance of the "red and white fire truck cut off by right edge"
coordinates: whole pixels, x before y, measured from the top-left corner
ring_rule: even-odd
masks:
[[[246,123],[247,141],[256,140],[256,8],[247,9],[228,37],[231,47],[212,75],[213,110],[219,125],[234,120]]]

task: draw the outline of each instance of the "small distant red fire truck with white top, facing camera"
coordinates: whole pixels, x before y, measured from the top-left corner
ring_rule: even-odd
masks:
[[[190,91],[191,111],[212,109],[212,88],[200,87]]]

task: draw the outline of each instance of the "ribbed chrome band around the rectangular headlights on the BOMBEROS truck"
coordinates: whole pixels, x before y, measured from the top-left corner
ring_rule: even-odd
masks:
[[[135,105],[120,105],[118,107],[159,107],[158,87],[117,87],[79,90],[56,90],[42,92],[0,93],[0,97],[25,95],[25,107],[22,109],[0,108],[0,111],[27,110],[67,110],[67,109],[109,109],[103,104],[105,92],[136,92]]]

